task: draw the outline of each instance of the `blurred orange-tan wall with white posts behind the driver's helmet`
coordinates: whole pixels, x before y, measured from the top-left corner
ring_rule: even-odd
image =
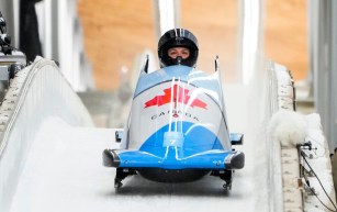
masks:
[[[293,70],[295,80],[307,76],[306,1],[180,0],[161,1],[161,4],[151,0],[78,1],[85,46],[99,89],[116,88],[115,71],[123,66],[132,68],[134,58],[145,49],[157,59],[158,38],[173,26],[189,29],[196,35],[198,68],[213,71],[215,55],[220,55],[222,67],[228,72],[225,80],[243,78],[240,59],[245,47],[254,45],[257,54]],[[162,24],[164,18],[168,19],[165,23],[169,20],[173,23]],[[247,43],[243,44],[243,37]],[[158,63],[155,64],[158,68]]]

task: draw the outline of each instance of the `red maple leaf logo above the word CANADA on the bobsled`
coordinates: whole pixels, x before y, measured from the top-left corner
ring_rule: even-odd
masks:
[[[189,96],[190,90],[189,89],[184,89],[181,88],[178,85],[175,85],[172,88],[167,88],[164,89],[164,96],[156,96],[154,97],[151,100],[148,100],[147,102],[145,102],[145,107],[144,108],[149,108],[153,105],[162,105],[166,103],[170,103],[171,101],[175,103],[175,108],[176,108],[176,103],[183,103],[187,104],[190,100],[190,96]],[[194,108],[194,107],[199,107],[202,109],[206,109],[206,103],[201,101],[200,99],[194,99],[190,107]]]

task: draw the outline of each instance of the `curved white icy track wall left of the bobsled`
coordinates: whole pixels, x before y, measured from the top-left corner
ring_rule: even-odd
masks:
[[[32,142],[48,116],[76,126],[93,125],[89,112],[55,63],[36,58],[16,74],[0,107],[1,212],[9,211]]]

